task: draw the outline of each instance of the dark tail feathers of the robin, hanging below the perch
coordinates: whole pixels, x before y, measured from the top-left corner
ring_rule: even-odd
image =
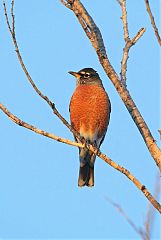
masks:
[[[78,186],[93,187],[94,186],[94,166],[91,167],[87,162],[83,167],[79,168],[79,178],[78,178]]]

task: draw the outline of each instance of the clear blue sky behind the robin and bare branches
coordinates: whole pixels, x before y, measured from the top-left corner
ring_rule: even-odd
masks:
[[[110,61],[119,74],[124,41],[117,1],[82,2],[102,31]],[[130,36],[146,27],[146,33],[130,51],[128,88],[159,144],[160,49],[144,1],[128,2]],[[160,3],[150,2],[159,24]],[[112,103],[111,122],[101,150],[153,192],[155,163],[75,15],[56,0],[15,0],[15,15],[16,36],[26,67],[67,120],[75,89],[75,80],[68,71],[84,67],[98,71]],[[24,121],[73,139],[27,82],[5,24],[2,4],[0,23],[0,102]],[[21,128],[2,112],[0,136],[1,239],[139,238],[106,201],[108,197],[119,203],[134,223],[143,227],[149,203],[125,176],[97,159],[95,186],[80,189],[76,148]],[[161,238],[159,226],[160,216],[156,213],[153,239]]]

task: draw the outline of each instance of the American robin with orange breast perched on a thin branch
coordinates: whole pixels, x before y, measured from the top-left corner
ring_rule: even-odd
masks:
[[[70,101],[72,127],[97,148],[104,140],[110,119],[111,104],[98,73],[93,68],[69,72],[76,77],[77,86]],[[75,137],[75,140],[79,140]],[[96,155],[87,148],[79,148],[78,186],[94,186]]]

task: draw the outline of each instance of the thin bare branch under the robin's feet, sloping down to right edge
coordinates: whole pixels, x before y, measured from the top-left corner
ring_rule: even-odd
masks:
[[[18,124],[19,126],[25,127],[31,131],[34,131],[35,133],[38,133],[40,135],[43,135],[45,137],[49,137],[52,138],[56,141],[59,142],[63,142],[66,144],[70,144],[72,146],[76,146],[76,147],[87,147],[90,151],[92,151],[93,153],[95,153],[98,157],[100,157],[102,160],[104,160],[107,164],[109,164],[111,167],[113,167],[114,169],[118,170],[119,172],[123,173],[127,178],[129,178],[134,184],[135,186],[140,189],[142,191],[142,193],[146,196],[146,198],[151,202],[151,204],[161,213],[161,205],[155,200],[155,198],[151,195],[151,193],[148,191],[148,189],[141,184],[141,182],[139,182],[139,180],[137,178],[135,178],[126,168],[120,166],[119,164],[117,164],[116,162],[114,162],[112,159],[108,158],[105,154],[101,153],[101,151],[99,149],[97,149],[96,147],[94,147],[91,144],[87,144],[87,143],[76,143],[76,142],[72,142],[68,139],[65,138],[61,138],[58,136],[55,136],[54,134],[45,132],[43,130],[40,130],[38,128],[36,128],[35,126],[32,126],[24,121],[22,121],[21,119],[19,119],[18,117],[16,117],[15,115],[13,115],[11,112],[8,111],[8,109],[6,107],[4,107],[1,103],[0,103],[0,109],[16,124]]]

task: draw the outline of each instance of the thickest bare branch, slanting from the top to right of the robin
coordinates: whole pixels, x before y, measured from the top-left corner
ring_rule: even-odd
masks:
[[[71,4],[71,0],[70,1],[66,0],[66,2]],[[115,86],[121,99],[123,100],[127,110],[129,111],[132,119],[134,120],[136,126],[138,127],[147,145],[147,148],[149,149],[149,152],[151,153],[156,165],[159,167],[161,171],[161,150],[157,146],[155,139],[153,138],[147,124],[145,123],[137,106],[135,105],[133,99],[131,98],[129,91],[122,84],[117,73],[110,64],[99,28],[96,26],[92,17],[89,15],[89,13],[79,0],[74,0],[72,2],[71,9],[75,13],[82,28],[84,29],[89,40],[91,41],[94,49],[96,50],[101,65],[103,66],[107,76],[110,78],[113,85]],[[82,24],[82,21],[80,19],[84,22],[84,24]],[[90,31],[91,37],[89,37],[88,31]],[[136,40],[137,37],[135,38],[134,43],[136,42]]]

